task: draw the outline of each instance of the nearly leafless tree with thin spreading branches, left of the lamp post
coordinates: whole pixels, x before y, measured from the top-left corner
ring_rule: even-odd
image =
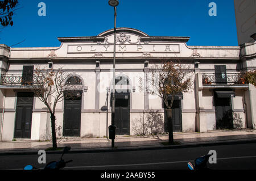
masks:
[[[75,96],[68,94],[68,90],[72,90],[73,83],[68,81],[71,78],[71,74],[65,73],[62,69],[58,70],[46,70],[36,68],[33,76],[33,81],[23,80],[23,85],[27,85],[28,88],[34,92],[48,108],[51,114],[51,128],[52,128],[52,148],[57,148],[56,140],[56,128],[55,128],[55,110],[56,105],[62,102],[65,98],[75,98]]]

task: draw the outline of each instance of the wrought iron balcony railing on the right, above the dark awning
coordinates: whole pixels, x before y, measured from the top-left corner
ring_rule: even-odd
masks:
[[[241,73],[202,73],[203,85],[247,85]]]

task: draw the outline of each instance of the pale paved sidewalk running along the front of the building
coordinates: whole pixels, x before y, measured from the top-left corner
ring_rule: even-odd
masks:
[[[206,144],[230,144],[236,142],[256,142],[256,130],[241,131],[210,131],[206,133],[174,133],[174,140],[180,145],[198,146]],[[161,142],[168,141],[168,135],[160,136],[117,136],[114,149],[154,149],[165,147]],[[104,151],[111,150],[111,140],[108,138],[69,138],[57,140],[58,147],[71,146],[72,151]],[[0,142],[0,154],[35,153],[52,147],[51,141],[18,140]],[[113,150],[113,149],[112,149]]]

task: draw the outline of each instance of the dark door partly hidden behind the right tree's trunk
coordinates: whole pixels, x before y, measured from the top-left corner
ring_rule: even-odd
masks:
[[[171,100],[168,100],[169,102]],[[166,106],[164,106],[166,108]],[[164,109],[164,132],[168,132],[167,113]],[[181,100],[174,100],[172,103],[172,129],[174,132],[182,132]]]

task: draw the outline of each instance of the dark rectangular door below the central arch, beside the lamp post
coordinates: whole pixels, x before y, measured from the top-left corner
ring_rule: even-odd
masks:
[[[118,98],[119,97],[119,98]],[[130,134],[130,95],[117,95],[115,99],[115,123],[116,134]]]

